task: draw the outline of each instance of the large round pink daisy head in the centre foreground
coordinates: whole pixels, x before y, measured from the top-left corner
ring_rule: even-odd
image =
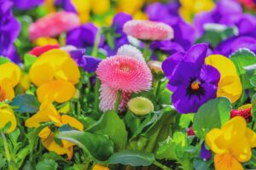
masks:
[[[148,65],[135,58],[113,56],[103,60],[96,70],[102,84],[123,92],[149,90],[152,75]]]

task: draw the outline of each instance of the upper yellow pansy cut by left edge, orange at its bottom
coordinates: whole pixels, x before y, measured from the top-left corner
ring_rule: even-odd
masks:
[[[8,62],[0,65],[0,101],[15,97],[15,86],[20,82],[20,68],[14,63]]]

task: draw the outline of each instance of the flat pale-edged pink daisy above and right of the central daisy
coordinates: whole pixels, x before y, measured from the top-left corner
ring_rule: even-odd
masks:
[[[123,31],[141,40],[155,41],[171,40],[173,38],[171,26],[150,20],[130,20],[125,23]]]

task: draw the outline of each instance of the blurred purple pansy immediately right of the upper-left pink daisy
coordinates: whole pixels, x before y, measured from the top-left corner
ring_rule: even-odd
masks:
[[[77,48],[92,47],[94,45],[98,28],[92,24],[87,23],[82,26],[76,27],[67,32],[67,44],[73,45]],[[101,36],[99,47],[103,45],[103,37]]]

